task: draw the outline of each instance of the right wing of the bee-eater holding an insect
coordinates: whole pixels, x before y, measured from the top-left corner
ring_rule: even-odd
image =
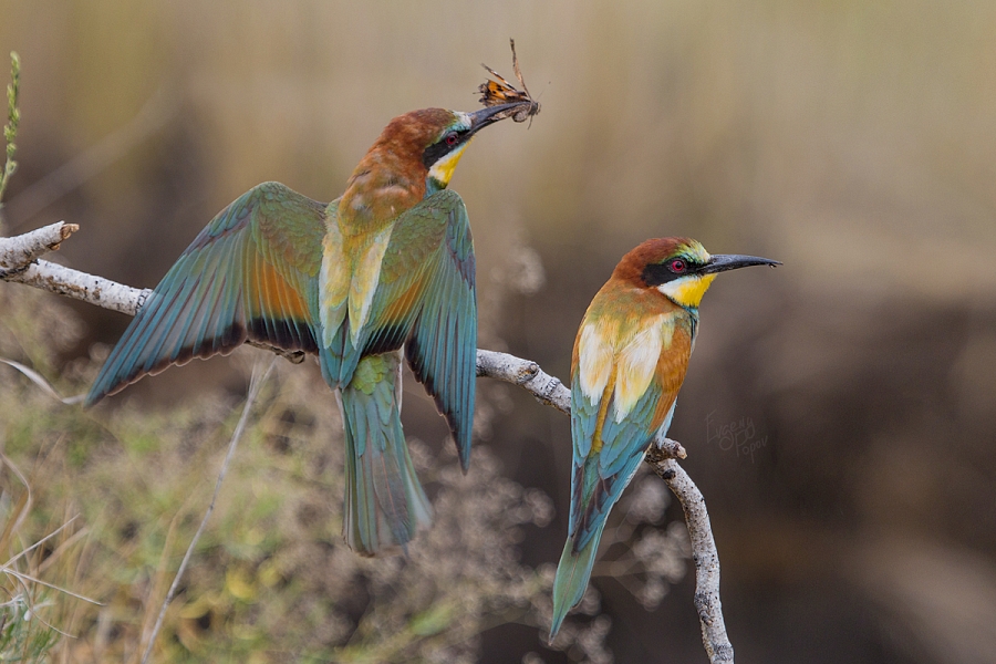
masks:
[[[467,208],[443,190],[401,215],[381,263],[360,347],[364,355],[406,343],[415,376],[449,423],[469,463],[477,352],[474,245]]]

